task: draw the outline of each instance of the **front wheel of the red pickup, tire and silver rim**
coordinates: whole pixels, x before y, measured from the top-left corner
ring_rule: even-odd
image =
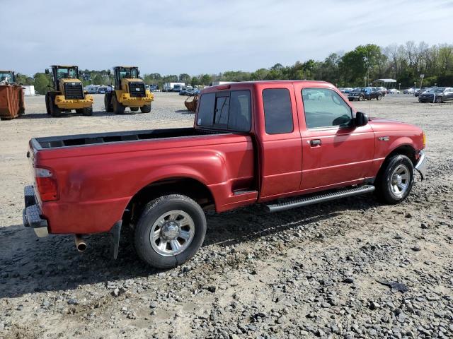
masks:
[[[399,176],[399,178],[398,178]],[[374,186],[379,201],[394,205],[411,193],[413,164],[406,155],[394,155],[382,165]]]

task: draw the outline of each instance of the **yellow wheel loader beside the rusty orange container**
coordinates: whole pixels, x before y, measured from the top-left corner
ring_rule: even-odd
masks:
[[[71,112],[84,115],[93,114],[93,95],[84,92],[84,84],[79,80],[77,66],[50,66],[52,70],[52,90],[45,95],[47,114],[60,117],[62,112]],[[45,70],[49,74],[49,69]]]

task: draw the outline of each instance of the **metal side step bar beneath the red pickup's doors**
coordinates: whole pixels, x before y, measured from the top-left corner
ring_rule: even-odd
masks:
[[[333,193],[320,194],[319,196],[310,196],[309,198],[296,198],[294,200],[285,201],[282,203],[273,203],[266,205],[269,212],[278,212],[280,210],[289,210],[290,208],[312,205],[314,203],[323,203],[325,201],[346,198],[347,196],[357,196],[358,194],[371,193],[374,191],[374,186],[364,185],[355,187],[354,189],[343,189]]]

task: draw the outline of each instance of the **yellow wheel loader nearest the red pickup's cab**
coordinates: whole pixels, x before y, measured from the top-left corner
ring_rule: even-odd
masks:
[[[123,114],[126,107],[129,107],[132,112],[137,112],[139,109],[142,113],[151,112],[151,102],[154,101],[154,95],[147,90],[144,81],[139,78],[139,73],[136,66],[113,67],[115,89],[105,93],[106,112]],[[110,75],[110,70],[108,74]]]

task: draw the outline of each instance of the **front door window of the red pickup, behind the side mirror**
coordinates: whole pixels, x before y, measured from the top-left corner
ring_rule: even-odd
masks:
[[[328,88],[304,88],[305,123],[307,129],[348,126],[352,111],[338,93]]]

